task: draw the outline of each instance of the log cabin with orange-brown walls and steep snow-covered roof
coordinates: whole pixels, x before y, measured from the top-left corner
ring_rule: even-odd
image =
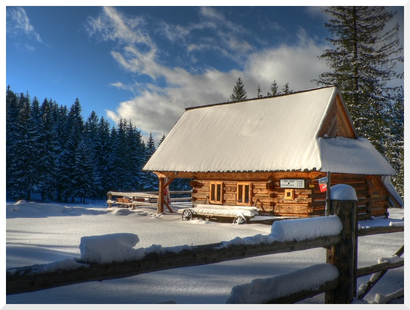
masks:
[[[390,182],[395,170],[358,137],[335,86],[186,108],[143,169],[159,177],[160,192],[165,178],[192,178],[194,207],[322,216],[326,192],[318,179],[328,172],[331,186],[356,190],[359,220],[403,206]]]

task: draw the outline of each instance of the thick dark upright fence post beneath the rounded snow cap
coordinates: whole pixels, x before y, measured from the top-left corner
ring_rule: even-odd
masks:
[[[339,270],[339,285],[325,293],[325,304],[350,304],[356,296],[357,201],[330,200],[330,214],[340,218],[343,228],[342,241],[326,251],[326,262]]]

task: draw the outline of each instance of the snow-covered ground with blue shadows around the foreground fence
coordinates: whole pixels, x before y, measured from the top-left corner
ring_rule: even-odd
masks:
[[[173,204],[175,211],[190,203]],[[93,204],[6,203],[6,268],[79,258],[83,236],[133,233],[135,248],[199,245],[236,237],[268,235],[271,226],[233,225],[203,220],[183,222],[175,212],[157,215],[156,208],[106,211],[103,201]],[[404,209],[390,209],[390,218],[360,222],[361,227],[389,226],[404,222]],[[291,220],[294,221],[294,220]],[[359,267],[377,264],[404,244],[404,233],[359,237]],[[403,255],[404,257],[404,255]],[[44,291],[6,296],[7,304],[224,304],[235,285],[294,272],[325,262],[325,249],[316,248],[227,261],[205,266],[177,268],[129,278],[88,282]],[[358,287],[370,276],[358,279]],[[389,270],[365,297],[388,295],[404,287],[404,267]],[[323,303],[324,294],[301,303]],[[379,298],[379,297],[378,297]],[[380,299],[380,298],[379,298]],[[404,300],[401,300],[404,303]]]

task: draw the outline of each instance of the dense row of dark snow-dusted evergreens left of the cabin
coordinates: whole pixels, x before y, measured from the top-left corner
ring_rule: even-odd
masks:
[[[130,120],[111,127],[94,111],[84,121],[81,110],[78,98],[71,107],[51,98],[40,104],[7,86],[7,197],[29,201],[36,193],[42,201],[85,202],[105,199],[108,191],[158,190],[158,177],[142,171],[156,150],[152,134],[145,143]],[[170,190],[190,190],[188,183],[175,180]]]

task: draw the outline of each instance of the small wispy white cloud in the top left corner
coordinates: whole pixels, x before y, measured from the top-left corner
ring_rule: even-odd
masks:
[[[40,35],[34,30],[22,7],[12,7],[6,10],[6,33],[14,37],[24,35],[42,43]],[[31,50],[34,49],[27,43],[24,43],[24,46]]]

